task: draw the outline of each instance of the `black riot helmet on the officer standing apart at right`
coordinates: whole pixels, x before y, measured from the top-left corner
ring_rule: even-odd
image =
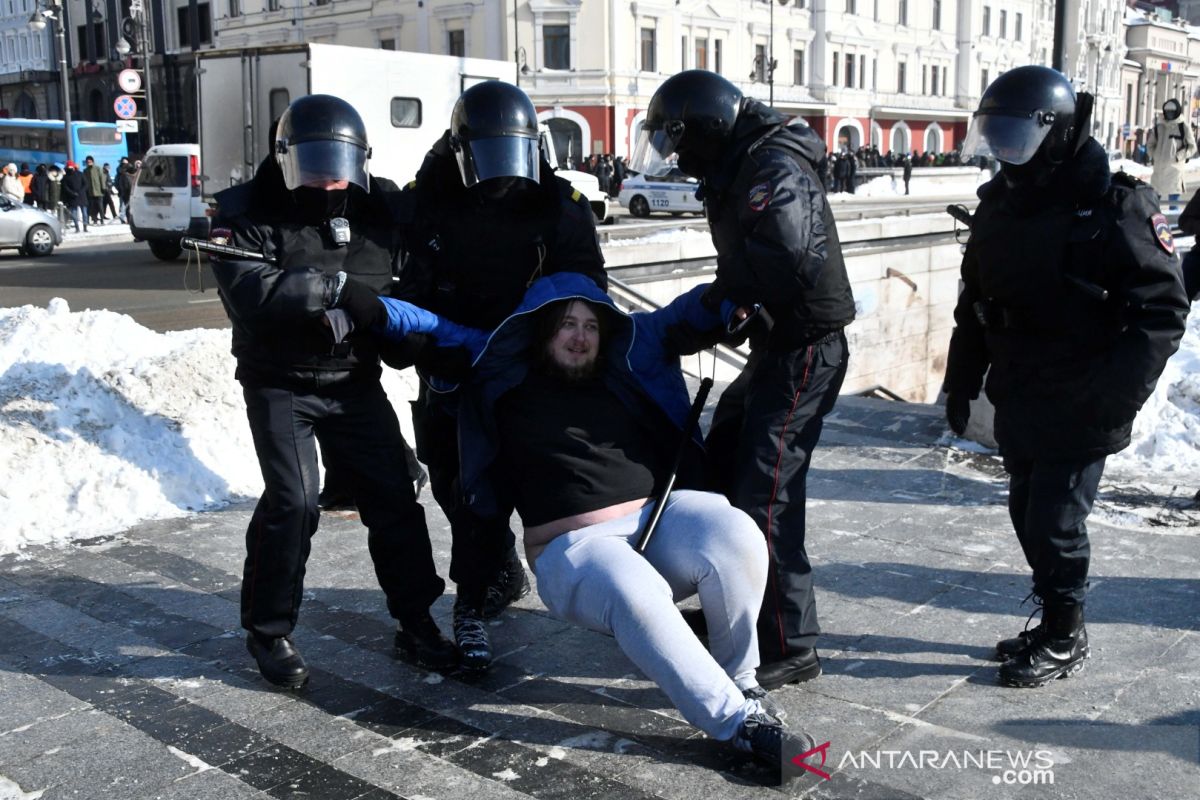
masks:
[[[962,155],[991,156],[1009,166],[1030,163],[1037,156],[1052,168],[1082,146],[1091,108],[1091,96],[1076,96],[1061,72],[1042,66],[1009,70],[979,98]]]

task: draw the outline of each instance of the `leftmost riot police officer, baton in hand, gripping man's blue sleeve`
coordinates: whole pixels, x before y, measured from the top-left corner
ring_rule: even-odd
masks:
[[[274,259],[212,267],[265,483],[246,531],[246,645],[269,681],[307,680],[290,634],[319,518],[319,443],[355,483],[376,576],[398,620],[396,645],[422,666],[452,666],[455,646],[428,613],[444,583],[367,332],[398,257],[388,203],[396,186],[368,174],[366,128],[338,97],[294,101],[272,148],[271,168],[217,194],[214,222],[215,237]]]

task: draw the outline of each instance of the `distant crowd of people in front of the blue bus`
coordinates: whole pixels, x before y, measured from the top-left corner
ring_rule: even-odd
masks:
[[[0,176],[0,196],[48,211],[64,223],[70,218],[79,233],[89,224],[128,221],[130,194],[140,169],[140,161],[121,158],[114,174],[109,164],[97,166],[91,156],[84,158],[83,169],[73,161],[34,169],[11,163]]]

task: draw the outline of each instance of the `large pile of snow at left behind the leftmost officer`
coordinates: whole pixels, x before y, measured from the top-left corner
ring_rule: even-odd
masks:
[[[233,373],[228,330],[156,333],[60,299],[0,308],[0,554],[257,497]],[[415,379],[389,373],[407,411]]]

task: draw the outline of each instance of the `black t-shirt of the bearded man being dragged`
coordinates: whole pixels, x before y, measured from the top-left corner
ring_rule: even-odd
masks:
[[[499,465],[526,527],[654,493],[655,437],[601,381],[532,369],[496,411]]]

